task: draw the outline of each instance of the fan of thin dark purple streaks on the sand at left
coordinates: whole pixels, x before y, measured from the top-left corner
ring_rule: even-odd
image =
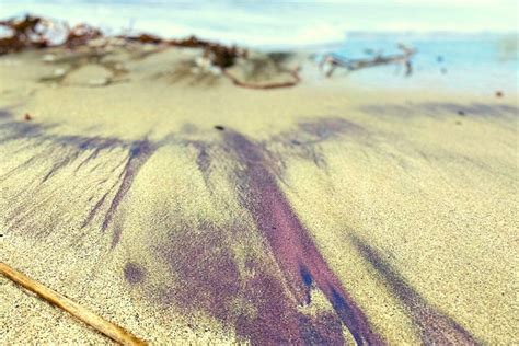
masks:
[[[120,203],[130,189],[135,176],[155,150],[153,143],[148,140],[124,141],[117,138],[54,135],[49,130],[56,125],[16,122],[11,114],[7,112],[2,114],[4,122],[0,123],[0,145],[9,141],[19,141],[21,146],[19,146],[19,149],[13,154],[33,148],[41,148],[41,152],[28,158],[9,172],[3,173],[0,180],[9,178],[21,170],[26,170],[31,166],[45,166],[46,162],[50,159],[50,168],[42,175],[39,182],[42,185],[66,168],[76,165],[73,171],[78,173],[102,153],[115,149],[127,152],[126,160],[120,161],[120,164],[115,165],[107,172],[113,174],[120,170],[117,182],[94,204],[83,221],[82,228],[91,223],[95,215],[102,210],[112,191],[116,188],[114,198],[109,203],[101,224],[103,231],[108,228]],[[85,152],[90,153],[84,159],[79,160],[81,157],[84,157]],[[94,166],[94,170],[106,170],[104,166],[100,166],[100,164],[101,162]],[[119,238],[120,228],[115,228],[112,247],[117,244]]]

